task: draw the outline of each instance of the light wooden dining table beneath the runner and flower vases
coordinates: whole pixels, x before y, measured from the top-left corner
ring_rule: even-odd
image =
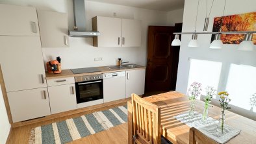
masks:
[[[167,93],[160,93],[150,97],[144,97],[146,101],[156,104],[160,107],[160,125],[162,136],[170,140],[172,143],[189,143],[189,129],[190,127],[181,121],[175,119],[175,115],[187,112],[190,109],[190,101],[183,93],[177,91],[170,91]],[[128,141],[133,143],[133,125],[132,125],[132,104],[128,105]],[[203,112],[204,102],[196,101],[195,110],[199,113]],[[231,107],[232,109],[232,107]],[[219,119],[221,109],[218,106],[209,108],[209,116],[214,119]],[[256,121],[243,117],[242,115],[233,112],[225,111],[225,124],[233,128],[241,130],[240,134],[235,138],[227,141],[227,143],[234,144],[256,144]]]

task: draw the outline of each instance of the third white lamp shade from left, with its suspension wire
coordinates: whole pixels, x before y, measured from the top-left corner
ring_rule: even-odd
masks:
[[[222,25],[223,25],[223,19],[224,19],[224,13],[225,13],[225,5],[227,3],[227,0],[225,0],[225,4],[224,4],[224,9],[223,9],[223,14],[222,14],[222,23],[220,23],[220,30],[219,32],[222,31]],[[210,49],[222,49],[222,40],[220,40],[221,38],[221,34],[216,34],[214,36],[214,41],[211,43],[210,45]]]

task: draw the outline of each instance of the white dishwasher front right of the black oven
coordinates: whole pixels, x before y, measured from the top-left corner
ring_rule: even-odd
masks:
[[[125,99],[125,71],[103,74],[104,102]]]

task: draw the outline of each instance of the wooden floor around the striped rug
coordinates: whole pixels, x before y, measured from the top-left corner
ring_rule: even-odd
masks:
[[[109,108],[113,108],[116,106],[122,106],[124,104],[127,104],[127,102],[123,102],[120,104],[113,104],[111,106],[105,106],[103,108],[97,108],[94,110],[88,110],[86,112],[82,112],[79,114],[73,114],[73,115],[68,115],[65,117],[60,117],[56,119],[51,119],[49,121],[43,121],[40,123],[34,123],[31,125],[25,125],[25,126],[20,126],[17,128],[12,128],[10,131],[9,139],[6,141],[6,143],[10,144],[18,144],[18,143],[28,143],[29,141],[29,136],[31,132],[31,128],[35,128],[36,126],[42,126],[42,125],[48,125],[50,123],[55,123],[58,121],[64,121],[66,119],[70,119],[72,117],[79,117],[84,114],[91,114],[96,111],[102,111],[102,110],[107,110]],[[80,144],[80,143],[128,143],[127,141],[127,123],[114,126],[113,128],[110,128],[109,130],[104,130],[103,132],[98,132],[96,134],[77,139],[76,141],[72,141],[71,143],[75,144]]]

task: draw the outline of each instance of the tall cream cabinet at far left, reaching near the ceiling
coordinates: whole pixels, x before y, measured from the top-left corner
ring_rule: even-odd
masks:
[[[0,64],[12,121],[51,114],[36,8],[0,4]]]

